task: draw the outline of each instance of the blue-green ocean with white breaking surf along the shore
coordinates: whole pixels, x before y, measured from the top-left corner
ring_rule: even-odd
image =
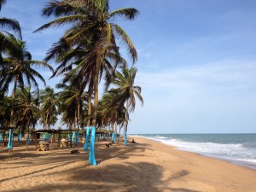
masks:
[[[256,169],[256,133],[253,134],[138,134],[177,149]]]

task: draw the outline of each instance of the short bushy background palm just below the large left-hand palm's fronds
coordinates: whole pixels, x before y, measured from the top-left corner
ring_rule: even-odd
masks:
[[[31,91],[30,87],[19,88],[16,93],[15,113],[19,117],[17,125],[26,125],[26,150],[29,127],[41,116],[39,109],[38,91]]]

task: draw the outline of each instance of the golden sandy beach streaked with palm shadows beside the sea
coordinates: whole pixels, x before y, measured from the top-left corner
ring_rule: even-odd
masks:
[[[39,152],[34,145],[25,152],[15,143],[9,158],[1,147],[0,191],[256,191],[255,170],[135,140],[126,147],[96,143],[97,166],[89,166],[82,143],[77,154],[70,153],[74,148]]]

